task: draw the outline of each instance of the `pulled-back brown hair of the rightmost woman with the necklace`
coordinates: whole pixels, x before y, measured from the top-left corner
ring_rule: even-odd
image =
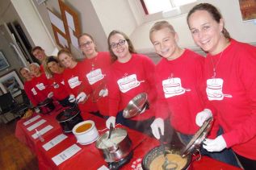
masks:
[[[187,14],[187,25],[189,26],[188,19],[189,17],[195,13],[197,10],[206,10],[212,16],[217,23],[220,23],[220,19],[223,19],[222,15],[220,14],[220,10],[218,10],[215,6],[209,3],[199,3],[198,5],[194,6]],[[229,35],[229,31],[223,26],[223,30],[221,31],[222,34],[225,36],[226,39],[231,39]]]

